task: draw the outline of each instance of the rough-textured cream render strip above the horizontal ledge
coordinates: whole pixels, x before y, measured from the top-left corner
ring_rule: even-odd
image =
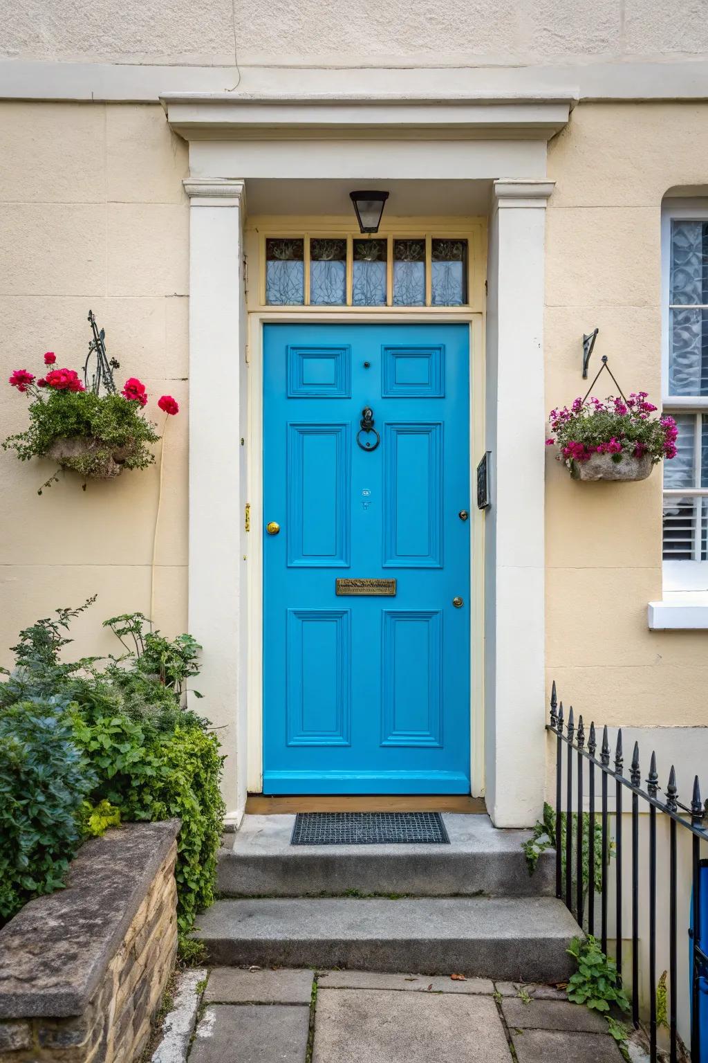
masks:
[[[0,55],[244,66],[519,65],[708,54],[700,0],[28,0],[2,3]]]

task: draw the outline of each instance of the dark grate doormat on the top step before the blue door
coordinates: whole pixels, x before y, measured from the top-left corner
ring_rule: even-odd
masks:
[[[298,812],[291,845],[449,845],[439,812]]]

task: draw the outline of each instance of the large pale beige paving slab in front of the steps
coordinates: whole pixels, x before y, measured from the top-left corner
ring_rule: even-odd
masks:
[[[317,993],[313,1063],[461,1060],[511,1063],[491,997],[391,990],[324,989]]]

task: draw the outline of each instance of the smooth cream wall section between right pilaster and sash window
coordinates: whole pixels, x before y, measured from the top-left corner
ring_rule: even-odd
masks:
[[[705,184],[707,164],[705,103],[581,103],[549,145],[547,409],[585,394],[603,354],[626,393],[660,399],[661,199]],[[583,381],[581,341],[595,326]],[[647,629],[661,597],[660,471],[580,484],[547,460],[549,687],[554,677],[586,721],[706,726],[708,632]]]

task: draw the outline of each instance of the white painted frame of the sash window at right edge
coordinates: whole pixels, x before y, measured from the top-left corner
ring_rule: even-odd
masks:
[[[671,223],[676,219],[708,221],[708,199],[668,199],[661,207],[661,400],[664,414],[694,414],[696,433],[694,445],[700,463],[702,414],[708,414],[708,395],[669,394],[669,352],[671,343]],[[683,305],[683,304],[681,304]],[[690,309],[690,306],[686,307]],[[698,466],[695,466],[698,468]],[[678,497],[708,496],[708,488],[662,490]],[[663,519],[662,519],[663,536]],[[662,583],[666,591],[700,591],[708,593],[708,561],[663,560]]]

